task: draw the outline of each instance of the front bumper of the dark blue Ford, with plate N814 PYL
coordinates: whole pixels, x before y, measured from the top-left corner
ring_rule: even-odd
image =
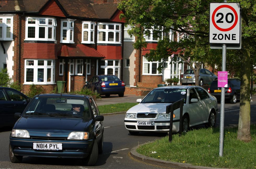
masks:
[[[33,149],[33,143],[62,143],[62,150]],[[86,158],[92,148],[93,140],[30,140],[10,136],[10,146],[14,155],[32,157]]]

